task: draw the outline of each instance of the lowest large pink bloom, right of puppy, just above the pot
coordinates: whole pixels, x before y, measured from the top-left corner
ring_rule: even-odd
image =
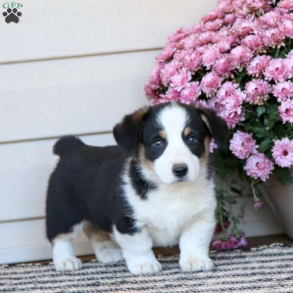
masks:
[[[253,179],[260,178],[265,182],[274,169],[272,161],[263,153],[252,154],[246,161],[244,170]]]

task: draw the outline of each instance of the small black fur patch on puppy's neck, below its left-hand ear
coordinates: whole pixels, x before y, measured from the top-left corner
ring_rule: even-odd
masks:
[[[142,199],[147,198],[147,192],[149,190],[154,190],[157,188],[154,183],[151,183],[144,179],[137,160],[133,159],[130,162],[129,177],[131,178],[133,188]]]

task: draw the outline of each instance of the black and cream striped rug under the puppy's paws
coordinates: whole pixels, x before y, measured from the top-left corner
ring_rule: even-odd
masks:
[[[163,271],[133,276],[124,264],[84,263],[78,272],[55,272],[52,263],[0,266],[0,292],[262,292],[293,293],[293,247],[273,244],[250,251],[211,251],[212,272],[183,273],[178,255],[159,256]]]

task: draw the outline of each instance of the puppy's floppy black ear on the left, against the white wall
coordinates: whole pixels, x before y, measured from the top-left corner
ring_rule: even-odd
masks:
[[[114,127],[113,133],[119,146],[126,152],[134,154],[141,138],[141,129],[149,107],[143,107],[126,115],[121,123]]]

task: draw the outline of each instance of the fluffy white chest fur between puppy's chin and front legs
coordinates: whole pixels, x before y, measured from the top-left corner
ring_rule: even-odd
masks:
[[[214,184],[205,176],[194,182],[160,185],[141,199],[126,180],[126,199],[133,209],[136,226],[146,227],[153,246],[172,246],[179,243],[182,230],[202,218],[214,214],[216,199]]]

